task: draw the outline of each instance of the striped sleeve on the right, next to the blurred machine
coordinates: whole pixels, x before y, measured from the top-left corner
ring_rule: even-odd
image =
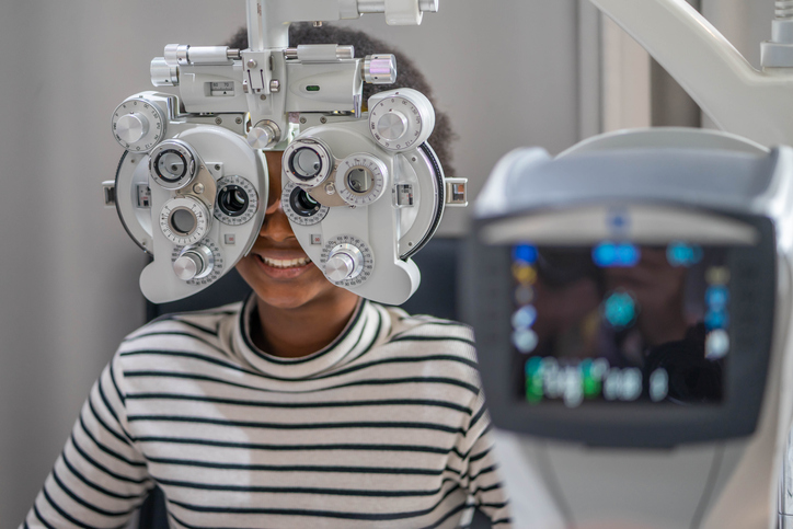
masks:
[[[476,508],[491,519],[493,527],[506,529],[512,527],[509,504],[493,453],[492,424],[481,390],[472,410],[471,421],[458,447],[466,456],[463,485],[468,486]]]

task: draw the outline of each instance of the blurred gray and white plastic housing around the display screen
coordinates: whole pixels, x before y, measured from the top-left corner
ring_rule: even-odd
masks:
[[[769,152],[729,135],[693,130],[611,135],[555,160],[542,150],[525,149],[507,154],[495,168],[475,206],[467,306],[516,527],[775,525],[778,469],[792,403],[791,389],[782,383],[791,376],[792,179],[789,148]],[[497,248],[521,241],[526,229],[545,237],[602,240],[611,234],[606,222],[577,228],[564,222],[575,218],[565,212],[591,214],[605,207],[632,208],[639,217],[654,210],[689,216],[691,222],[670,228],[676,230],[708,230],[714,219],[757,229],[758,252],[765,257],[758,254],[747,266],[756,266],[752,274],[763,278],[757,283],[765,285],[758,291],[760,318],[752,325],[766,343],[757,344],[762,358],[750,359],[746,372],[729,375],[733,384],[742,376],[750,384],[747,401],[734,413],[724,414],[729,396],[724,405],[699,410],[627,406],[620,416],[598,406],[556,407],[554,426],[547,409],[522,415],[525,403],[505,394],[496,327],[503,318],[495,306],[499,295],[487,290],[498,288],[490,280],[497,273],[494,262],[503,258]],[[657,226],[658,233],[665,229]],[[750,321],[751,314],[736,318]],[[643,418],[645,412],[656,415]],[[526,424],[527,417],[536,424]],[[652,417],[664,428],[657,429]],[[698,428],[699,421],[710,426]]]

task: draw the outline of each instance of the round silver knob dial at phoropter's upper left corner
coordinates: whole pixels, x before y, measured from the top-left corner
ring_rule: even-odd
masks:
[[[163,138],[166,123],[159,106],[130,97],[113,112],[113,137],[128,151],[147,152]]]

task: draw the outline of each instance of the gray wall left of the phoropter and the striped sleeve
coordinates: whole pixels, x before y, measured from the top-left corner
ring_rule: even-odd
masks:
[[[111,113],[151,90],[165,44],[218,44],[244,13],[241,0],[0,2],[0,527],[22,520],[143,321],[143,256],[102,203],[122,154]]]

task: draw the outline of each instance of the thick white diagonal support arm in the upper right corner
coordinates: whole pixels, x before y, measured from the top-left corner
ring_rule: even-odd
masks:
[[[758,71],[686,0],[591,0],[724,130],[793,145],[793,70]]]

